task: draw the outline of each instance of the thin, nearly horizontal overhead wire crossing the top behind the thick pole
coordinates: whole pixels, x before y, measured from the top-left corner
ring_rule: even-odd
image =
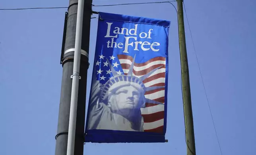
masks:
[[[144,3],[125,3],[125,4],[109,4],[109,5],[93,5],[93,6],[123,6],[123,5],[134,5],[134,4],[154,4],[154,3],[170,3],[173,1],[163,1],[163,2],[144,2]],[[68,7],[40,7],[40,8],[10,8],[10,9],[0,9],[0,10],[27,10],[27,9],[63,9]]]

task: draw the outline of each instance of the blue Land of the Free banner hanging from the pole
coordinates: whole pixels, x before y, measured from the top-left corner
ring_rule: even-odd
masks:
[[[169,26],[99,12],[85,142],[165,142]]]

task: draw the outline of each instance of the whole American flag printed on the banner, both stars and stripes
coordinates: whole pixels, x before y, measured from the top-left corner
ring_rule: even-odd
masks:
[[[116,58],[117,57],[117,58]],[[96,79],[101,84],[105,84],[113,77],[108,66],[108,59],[117,74],[127,75],[132,64],[133,57],[129,55],[99,55],[96,62]],[[151,70],[161,67],[149,77],[144,79],[145,87],[165,86],[165,68],[166,58],[155,57],[143,63],[134,63],[133,76],[142,77]],[[165,103],[165,88],[159,88],[145,93],[145,98],[155,100],[160,103]],[[144,132],[163,133],[165,106],[163,104],[146,103],[146,108],[141,108],[142,117],[144,118]]]

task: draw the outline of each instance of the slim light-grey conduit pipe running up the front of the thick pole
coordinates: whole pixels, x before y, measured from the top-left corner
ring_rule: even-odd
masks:
[[[78,86],[79,86],[79,71],[81,59],[81,42],[82,42],[82,27],[83,27],[83,4],[84,0],[78,0],[78,15],[76,22],[76,40],[74,50],[74,68],[71,89],[70,102],[70,119],[68,126],[68,146],[67,155],[74,155],[75,136],[76,136],[76,114],[78,105]]]

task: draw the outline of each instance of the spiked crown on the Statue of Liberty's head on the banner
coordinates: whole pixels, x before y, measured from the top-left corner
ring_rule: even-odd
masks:
[[[117,87],[122,87],[122,85],[124,85],[124,84],[135,85],[137,89],[140,89],[140,91],[143,92],[143,95],[145,94],[146,91],[151,91],[151,90],[155,90],[155,89],[159,89],[159,88],[165,87],[165,86],[145,87],[145,85],[143,83],[144,79],[149,77],[153,72],[155,72],[156,70],[158,70],[162,66],[157,67],[157,68],[151,70],[149,73],[145,74],[142,77],[132,76],[132,72],[133,72],[133,68],[134,68],[135,56],[134,56],[134,59],[132,60],[132,64],[131,64],[131,66],[129,68],[129,71],[128,71],[127,75],[124,75],[124,74],[118,75],[116,73],[116,71],[114,70],[114,67],[111,65],[111,63],[107,59],[107,62],[109,64],[109,67],[111,69],[113,77],[111,79],[109,79],[105,83],[105,85],[103,86],[103,88],[101,90],[101,100],[105,100],[108,97],[109,91],[111,91],[111,90],[113,90],[113,89],[115,89]],[[162,104],[160,102],[157,102],[157,101],[154,101],[154,100],[150,100],[148,98],[145,98],[145,102],[146,103],[153,103],[153,104]]]

